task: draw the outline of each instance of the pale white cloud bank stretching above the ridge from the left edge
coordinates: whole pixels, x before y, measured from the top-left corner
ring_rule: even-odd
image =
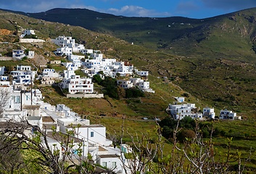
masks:
[[[98,0],[98,1],[109,1],[110,4],[117,0]],[[1,8],[11,9],[21,12],[44,12],[54,8],[80,8],[80,9],[91,9],[96,12],[104,12],[115,15],[123,15],[128,17],[168,17],[171,14],[168,12],[157,12],[153,9],[144,9],[139,6],[123,6],[120,9],[98,9],[93,6],[86,6],[82,0],[11,0],[1,2]]]

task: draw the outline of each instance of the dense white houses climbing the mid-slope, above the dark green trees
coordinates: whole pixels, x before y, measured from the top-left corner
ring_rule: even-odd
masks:
[[[62,65],[67,67],[67,71],[73,72],[80,69],[90,78],[92,78],[96,74],[99,74],[99,72],[101,72],[103,78],[104,76],[109,76],[112,78],[115,78],[117,76],[127,77],[136,74],[140,77],[147,79],[149,75],[148,71],[139,71],[129,62],[119,62],[117,61],[117,59],[104,58],[104,55],[99,50],[85,49],[83,45],[75,43],[75,39],[73,39],[72,37],[59,36],[52,41],[60,46],[60,48],[55,51],[55,54],[66,55],[67,59],[70,61],[62,63]],[[78,51],[82,54],[85,54],[85,56],[73,54],[73,52]],[[70,83],[71,81],[73,81],[73,79],[78,80],[80,79],[80,77],[75,75],[69,75],[67,78],[63,79],[61,84],[62,87],[69,89],[69,91],[71,92],[70,94],[86,91],[88,91],[88,93],[93,92],[89,89],[82,89],[83,87],[85,87],[85,85],[84,80],[81,79],[79,82],[77,82],[77,84],[80,84],[80,86],[71,86]],[[86,83],[88,83],[88,79],[86,79]],[[127,84],[127,86],[125,84],[121,85],[124,88],[138,86],[142,91],[154,93],[152,88],[149,88],[149,81],[142,80],[141,78],[131,78],[126,82],[125,80],[122,80],[122,83]],[[117,84],[120,84],[120,81],[118,81]],[[70,89],[70,87],[72,89]],[[90,87],[86,86],[86,88]]]

